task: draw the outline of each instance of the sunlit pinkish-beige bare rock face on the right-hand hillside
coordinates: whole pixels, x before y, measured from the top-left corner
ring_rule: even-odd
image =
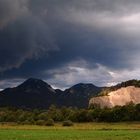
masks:
[[[124,106],[130,102],[140,103],[140,88],[135,86],[123,87],[116,91],[108,93],[107,96],[91,98],[89,105],[98,105],[101,108],[112,108],[115,106]]]

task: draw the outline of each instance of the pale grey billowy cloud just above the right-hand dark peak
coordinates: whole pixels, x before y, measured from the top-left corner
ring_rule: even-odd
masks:
[[[62,67],[46,71],[46,74],[52,75],[47,81],[60,88],[68,88],[77,83],[93,83],[97,86],[106,86],[112,80],[110,70],[100,64],[91,67],[91,63],[84,60],[78,60]],[[106,84],[105,84],[106,83]]]

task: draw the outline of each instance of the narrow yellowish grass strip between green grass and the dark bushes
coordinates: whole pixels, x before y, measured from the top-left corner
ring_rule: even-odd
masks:
[[[71,127],[63,127],[62,123],[56,123],[54,126],[38,125],[18,125],[14,123],[0,124],[0,129],[23,129],[23,130],[59,130],[59,129],[80,129],[80,130],[140,130],[140,122],[123,123],[75,123]]]

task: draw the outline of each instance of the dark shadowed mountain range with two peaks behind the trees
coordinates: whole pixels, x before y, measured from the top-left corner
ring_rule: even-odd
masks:
[[[86,108],[89,99],[97,96],[101,90],[102,87],[80,83],[62,91],[53,89],[43,80],[29,78],[17,87],[1,91],[0,106],[47,109],[51,105],[56,105]]]

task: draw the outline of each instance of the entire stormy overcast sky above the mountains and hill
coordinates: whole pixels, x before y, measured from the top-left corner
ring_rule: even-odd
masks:
[[[0,0],[0,89],[140,79],[139,0]]]

